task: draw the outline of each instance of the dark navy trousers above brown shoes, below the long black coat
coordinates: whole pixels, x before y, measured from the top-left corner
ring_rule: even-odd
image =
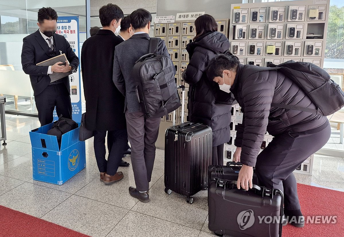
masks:
[[[94,153],[96,155],[99,172],[115,175],[123,157],[123,150],[128,144],[126,129],[107,131],[109,148],[108,160],[106,157],[105,137],[106,131],[94,131]]]

